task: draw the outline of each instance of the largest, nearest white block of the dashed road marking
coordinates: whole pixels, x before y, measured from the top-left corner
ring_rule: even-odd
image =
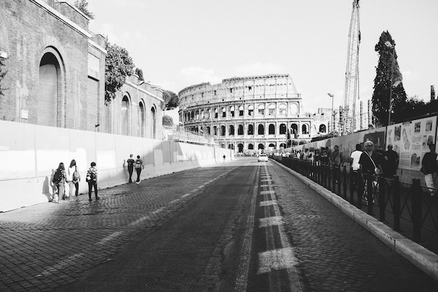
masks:
[[[294,267],[297,263],[297,258],[295,258],[291,247],[264,251],[259,253],[257,274],[271,272],[272,270],[288,269]]]

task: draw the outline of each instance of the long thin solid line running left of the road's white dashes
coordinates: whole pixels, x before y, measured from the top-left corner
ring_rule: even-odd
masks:
[[[234,286],[234,292],[246,292],[246,286],[248,285],[248,272],[250,264],[251,242],[253,240],[254,220],[255,220],[255,205],[257,201],[258,191],[258,176],[259,168],[256,168],[255,174],[251,174],[251,180],[255,175],[255,184],[253,190],[253,197],[251,199],[250,210],[248,214],[248,220],[246,221],[245,235],[243,235],[242,253],[240,258],[239,270],[237,270],[236,284]]]

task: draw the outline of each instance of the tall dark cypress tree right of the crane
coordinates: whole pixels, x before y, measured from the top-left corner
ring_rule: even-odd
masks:
[[[374,50],[379,53],[379,64],[376,67],[374,78],[374,92],[372,95],[372,111],[376,124],[388,125],[388,115],[391,95],[391,121],[398,122],[404,118],[402,112],[407,106],[407,95],[404,92],[402,73],[397,62],[395,41],[388,31],[382,32],[379,43]],[[391,76],[392,82],[391,82]],[[390,92],[390,86],[393,86]]]

